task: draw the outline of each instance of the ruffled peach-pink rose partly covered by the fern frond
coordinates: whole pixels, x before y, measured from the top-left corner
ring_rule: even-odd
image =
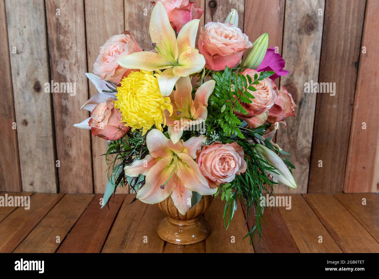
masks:
[[[242,72],[243,75],[249,75],[254,80],[254,75],[260,75],[252,69],[246,69]],[[247,114],[235,112],[239,118],[246,121],[247,125],[256,128],[263,125],[268,117],[268,111],[274,106],[279,91],[270,78],[261,80],[258,84],[252,86],[257,89],[256,91],[249,91],[255,98],[251,99],[252,103],[241,103],[242,107],[247,111]]]

